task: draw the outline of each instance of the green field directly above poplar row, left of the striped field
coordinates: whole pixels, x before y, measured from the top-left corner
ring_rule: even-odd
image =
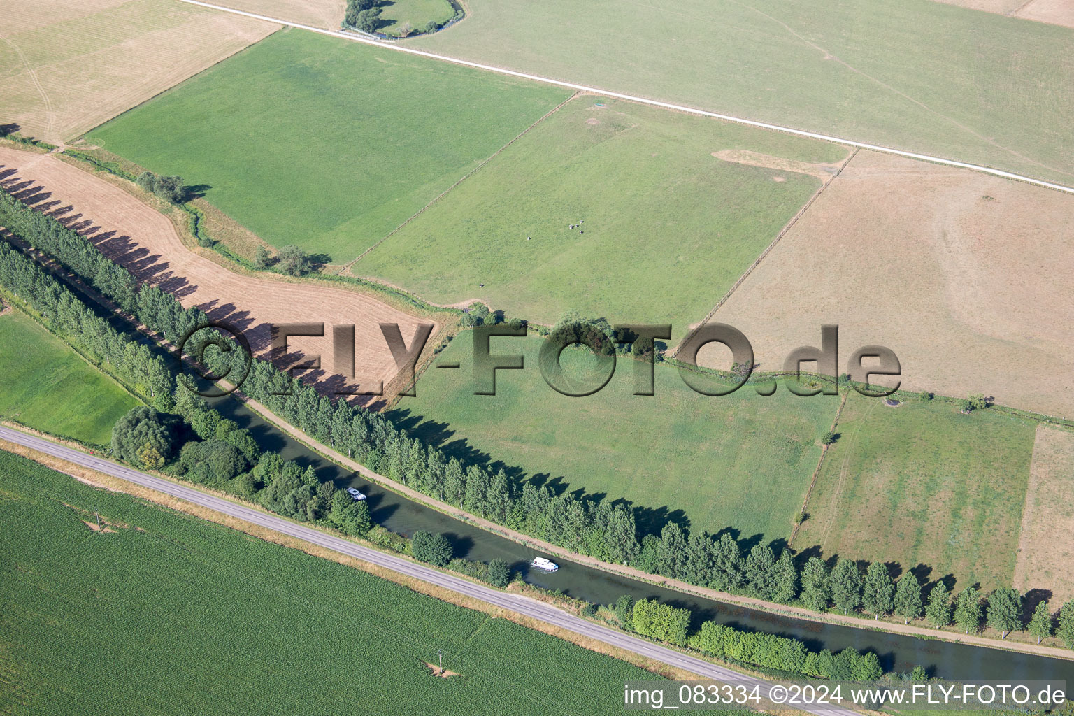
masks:
[[[738,529],[742,537],[787,537],[821,456],[837,396],[802,398],[751,386],[731,395],[694,393],[668,366],[656,366],[654,396],[633,395],[634,365],[621,360],[611,382],[572,398],[549,388],[537,364],[539,338],[494,338],[493,353],[524,353],[524,370],[497,371],[495,396],[474,395],[469,334],[455,338],[429,368],[418,397],[394,417],[420,435],[438,435],[451,453],[491,454],[521,473],[568,489],[626,498],[648,508],[642,526],[658,531],[670,514],[698,529]],[[575,370],[590,361],[566,351]],[[574,374],[572,374],[574,375]]]

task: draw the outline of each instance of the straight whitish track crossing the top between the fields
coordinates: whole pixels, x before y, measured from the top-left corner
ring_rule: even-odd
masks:
[[[722,115],[716,112],[707,112],[705,109],[698,109],[696,107],[687,107],[681,104],[671,104],[669,102],[659,102],[657,100],[645,99],[644,97],[635,97],[633,94],[624,94],[622,92],[613,92],[607,89],[600,89],[599,87],[587,87],[585,85],[577,85],[572,82],[563,82],[562,79],[553,79],[552,77],[542,77],[540,75],[527,74],[525,72],[516,72],[514,70],[505,70],[504,68],[493,67],[491,64],[481,64],[480,62],[470,62],[468,60],[461,60],[455,57],[448,57],[447,55],[437,55],[436,53],[426,53],[421,49],[415,49],[413,47],[406,47],[404,45],[396,44],[394,42],[384,42],[379,40],[371,40],[353,32],[339,32],[337,30],[325,30],[324,28],[311,27],[309,25],[301,25],[299,23],[291,23],[289,20],[282,20],[278,17],[268,17],[267,15],[258,15],[257,13],[247,13],[242,10],[234,10],[233,8],[224,8],[222,5],[215,5],[211,2],[201,2],[201,0],[179,0],[179,2],[186,2],[191,5],[199,5],[201,8],[209,8],[212,10],[219,10],[224,13],[232,13],[234,15],[243,15],[245,17],[252,17],[259,20],[265,20],[266,23],[275,23],[277,25],[286,25],[288,27],[296,27],[301,30],[309,30],[310,32],[318,32],[320,34],[332,35],[333,38],[343,38],[344,40],[351,40],[353,42],[361,42],[366,45],[376,45],[377,47],[383,47],[386,49],[394,49],[400,53],[407,53],[408,55],[418,55],[420,57],[429,57],[434,60],[440,60],[441,62],[451,62],[453,64],[462,64],[469,68],[477,68],[478,70],[488,70],[489,72],[497,72],[499,74],[511,75],[512,77],[522,77],[524,79],[534,79],[536,82],[542,82],[549,85],[556,85],[558,87],[567,87],[569,89],[576,89],[583,92],[591,92],[593,94],[601,94],[604,97],[614,97],[621,100],[629,100],[630,102],[640,102],[641,104],[650,104],[656,107],[664,107],[666,109],[676,109],[677,112],[685,112],[692,115],[700,115],[702,117],[714,117],[716,119],[723,119],[724,121],[732,121],[738,125],[749,125],[750,127],[760,127],[763,129],[772,129],[779,132],[786,132],[788,134],[796,134],[798,136],[808,136],[813,140],[824,140],[825,142],[834,142],[836,144],[842,144],[847,147],[858,147],[859,149],[871,149],[873,151],[882,151],[886,155],[896,155],[898,157],[908,157],[910,159],[919,159],[927,162],[934,162],[937,164],[944,164],[946,166],[958,166],[959,169],[973,170],[974,172],[983,172],[985,174],[991,174],[992,176],[1001,176],[1004,179],[1017,179],[1018,181],[1025,181],[1027,184],[1036,185],[1037,187],[1047,187],[1048,189],[1056,189],[1058,191],[1065,192],[1068,194],[1074,194],[1074,187],[1068,187],[1061,184],[1053,184],[1050,181],[1042,181],[1040,179],[1034,179],[1032,177],[1022,176],[1021,174],[1014,174],[1012,172],[1004,172],[1003,170],[992,169],[990,166],[982,166],[979,164],[970,164],[969,162],[955,161],[953,159],[944,159],[943,157],[932,157],[929,155],[918,155],[913,151],[902,151],[900,149],[892,149],[891,147],[882,147],[875,144],[866,144],[863,142],[855,142],[854,140],[846,140],[841,136],[831,136],[830,134],[818,134],[817,132],[807,132],[800,129],[794,129],[793,127],[782,127],[780,125],[771,125],[769,122],[755,121],[753,119],[745,119],[743,117],[732,117],[730,115]]]

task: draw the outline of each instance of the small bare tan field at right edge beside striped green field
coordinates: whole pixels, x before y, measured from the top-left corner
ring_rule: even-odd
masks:
[[[1053,603],[1074,597],[1074,433],[1036,428],[1021,540],[1014,568],[1017,589],[1048,589]]]

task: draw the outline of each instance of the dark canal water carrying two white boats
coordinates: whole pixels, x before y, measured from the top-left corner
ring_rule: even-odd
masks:
[[[374,522],[408,537],[419,529],[442,532],[452,541],[455,556],[481,561],[504,559],[527,582],[540,587],[562,589],[566,595],[598,604],[610,604],[622,595],[658,599],[690,609],[696,624],[714,619],[740,629],[793,637],[806,642],[811,649],[838,652],[847,646],[871,649],[880,656],[886,670],[909,672],[920,664],[930,674],[949,680],[1065,680],[1074,685],[1074,661],[769,614],[664,589],[561,557],[554,557],[560,565],[554,573],[527,570],[529,560],[541,553],[369,483],[320,457],[233,398],[217,398],[211,403],[226,418],[249,429],[263,450],[279,452],[303,467],[313,465],[321,480],[333,480],[337,487],[353,486],[368,495]]]

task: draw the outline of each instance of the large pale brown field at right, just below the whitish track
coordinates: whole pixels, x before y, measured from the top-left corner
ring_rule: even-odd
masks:
[[[837,323],[841,370],[881,344],[904,389],[1074,418],[1072,215],[1074,196],[861,151],[712,320],[763,370]]]

